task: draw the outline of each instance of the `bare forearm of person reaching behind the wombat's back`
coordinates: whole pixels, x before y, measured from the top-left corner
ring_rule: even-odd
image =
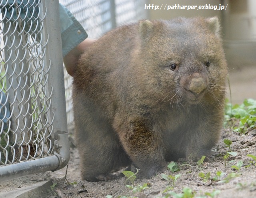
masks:
[[[86,40],[84,40],[80,44],[78,44],[70,52],[68,52],[68,54],[63,58],[64,65],[65,65],[66,70],[68,71],[69,75],[73,76],[74,70],[78,63],[78,59],[80,58],[80,55],[84,51],[86,51],[88,49],[88,47],[95,41],[96,41],[95,39],[87,38]]]

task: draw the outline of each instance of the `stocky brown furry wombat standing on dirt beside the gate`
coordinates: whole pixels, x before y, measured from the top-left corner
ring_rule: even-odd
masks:
[[[114,178],[131,163],[149,178],[218,141],[226,60],[218,18],[141,20],[84,52],[73,82],[82,179]]]

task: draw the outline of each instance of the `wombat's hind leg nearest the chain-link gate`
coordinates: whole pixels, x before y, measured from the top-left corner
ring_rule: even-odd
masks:
[[[113,170],[128,166],[130,159],[110,125],[89,100],[76,98],[76,144],[82,180],[110,180]]]

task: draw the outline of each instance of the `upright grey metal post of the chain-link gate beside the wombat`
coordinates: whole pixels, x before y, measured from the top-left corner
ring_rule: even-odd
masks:
[[[52,86],[52,111],[54,116],[54,147],[55,154],[60,156],[60,166],[63,168],[70,157],[68,140],[68,126],[66,117],[66,100],[64,87],[64,72],[62,59],[62,43],[60,31],[60,15],[58,0],[42,1],[43,8],[53,8],[54,12],[47,12],[46,27],[50,35],[46,58],[50,65],[50,85]],[[58,76],[58,78],[57,78]]]

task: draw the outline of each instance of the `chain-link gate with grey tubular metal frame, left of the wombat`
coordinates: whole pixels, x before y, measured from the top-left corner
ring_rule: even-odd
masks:
[[[0,181],[69,160],[58,6],[0,2]]]

